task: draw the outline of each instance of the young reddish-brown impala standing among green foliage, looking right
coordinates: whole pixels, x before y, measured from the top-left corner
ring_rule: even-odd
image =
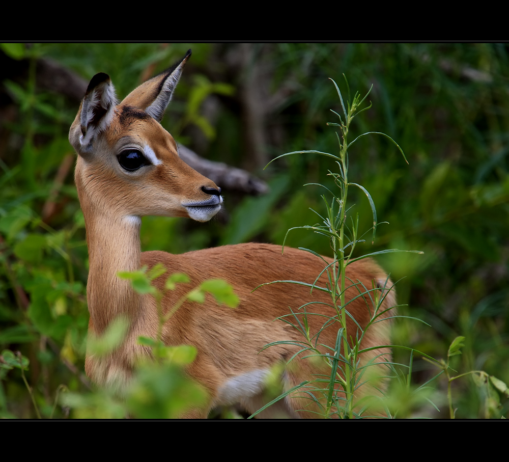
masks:
[[[281,254],[281,247],[261,243],[182,255],[140,251],[140,216],[184,216],[206,222],[221,208],[220,188],[184,163],[172,135],[159,123],[190,54],[189,50],[179,64],[140,85],[120,103],[108,75],[95,75],[71,126],[69,141],[78,154],[75,180],[90,257],[89,333],[101,334],[120,315],[130,322],[122,345],[106,358],[87,354],[85,368],[97,384],[122,386],[129,381],[136,360],[150,355],[137,338],[156,337],[156,302],[152,296],[134,291],[129,281],[117,276],[119,271],[162,263],[166,276],[185,273],[196,285],[206,279],[224,279],[240,298],[236,309],[219,306],[208,295],[203,305],[186,302],[164,324],[162,339],[167,345],[191,344],[197,348],[197,357],[186,372],[205,387],[209,402],[206,409],[193,410],[185,417],[206,417],[212,407],[234,403],[254,412],[263,404],[265,379],[273,366],[286,365],[299,349],[292,343],[263,347],[275,341],[303,340],[296,329],[275,318],[289,314],[290,308],[298,311],[311,301],[322,303],[311,305],[313,309],[308,307],[308,312],[332,317],[335,311],[326,305],[330,304],[328,293],[314,290],[310,294],[301,285],[277,283],[252,291],[276,280],[313,283],[324,263],[305,251],[286,248]],[[395,297],[394,291],[388,289],[390,281],[383,270],[369,259],[349,265],[347,278],[351,284],[346,292],[348,300],[357,297],[348,305],[358,323],[348,319],[349,335],[355,337],[358,326],[363,328],[372,319],[373,300],[377,296],[383,299],[380,312],[394,306]],[[165,277],[155,280],[160,290],[164,282]],[[371,296],[359,296],[359,282],[367,289],[375,287]],[[326,286],[325,276],[318,285]],[[189,289],[180,290],[165,294],[164,312],[171,310]],[[373,296],[374,292],[377,296]],[[311,335],[323,327],[323,319],[308,316]],[[366,330],[362,347],[388,345],[388,324],[378,322]],[[332,323],[320,334],[319,345],[334,345],[337,332],[338,323]],[[383,362],[384,356],[390,358],[388,349],[375,349],[364,353],[362,363],[374,358]],[[317,374],[330,376],[330,368],[323,369],[322,363],[325,361],[317,364],[294,359],[284,366],[281,386],[289,390],[317,378]],[[364,385],[355,393],[361,393],[362,388],[369,386]],[[279,401],[278,411],[290,417],[316,417],[306,411],[315,410],[306,407],[310,403],[306,396],[309,395],[302,390],[287,396]]]

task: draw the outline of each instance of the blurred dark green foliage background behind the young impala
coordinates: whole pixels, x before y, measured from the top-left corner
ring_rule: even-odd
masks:
[[[86,387],[88,254],[73,182],[68,130],[90,78],[110,75],[122,99],[181,59],[186,64],[163,126],[203,159],[228,167],[224,210],[210,223],[145,217],[143,250],[183,253],[245,241],[282,244],[287,230],[313,225],[325,210],[319,186],[333,189],[330,159],[296,150],[338,153],[330,110],[371,87],[373,106],[357,117],[350,140],[350,181],[372,195],[380,222],[360,255],[379,258],[398,281],[400,314],[393,343],[453,358],[460,373],[484,370],[509,382],[509,48],[505,44],[2,44],[0,45],[0,351],[30,360],[26,378],[43,416],[61,384]],[[228,169],[245,174],[228,182]],[[365,196],[349,190],[360,229],[372,226]],[[327,196],[330,200],[330,196]],[[289,233],[286,244],[331,255],[323,236]],[[267,281],[261,281],[267,282]],[[429,324],[429,325],[428,325]],[[407,350],[395,362],[409,364]],[[402,374],[408,374],[405,367]],[[439,369],[414,355],[412,387]],[[0,413],[34,417],[19,370],[0,370]],[[394,381],[397,384],[397,381]],[[394,385],[396,387],[397,385]],[[425,398],[400,403],[400,417],[447,418],[447,381]],[[396,390],[394,388],[394,390]],[[435,406],[428,401],[433,401]],[[472,375],[453,382],[457,417],[500,418],[507,398]],[[56,411],[56,416],[64,414]]]

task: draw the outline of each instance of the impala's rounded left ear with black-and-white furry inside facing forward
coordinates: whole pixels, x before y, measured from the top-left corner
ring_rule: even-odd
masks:
[[[94,75],[69,132],[69,141],[78,152],[90,151],[97,135],[111,123],[116,105],[115,87],[109,75]]]

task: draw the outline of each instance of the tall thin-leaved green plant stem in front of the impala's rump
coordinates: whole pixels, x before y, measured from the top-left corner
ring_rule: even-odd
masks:
[[[300,350],[298,354],[305,354],[306,357],[316,356],[320,358],[320,360],[324,361],[330,368],[330,375],[326,378],[321,377],[314,379],[313,381],[305,382],[301,384],[299,387],[287,391],[284,395],[279,396],[277,399],[280,399],[281,397],[286,396],[296,391],[297,389],[305,386],[308,392],[309,391],[312,392],[310,394],[308,393],[310,399],[314,400],[318,404],[319,408],[321,409],[325,417],[338,416],[342,418],[353,418],[361,417],[362,413],[366,409],[365,407],[360,407],[360,410],[358,409],[356,410],[355,407],[356,403],[354,402],[354,392],[363,384],[367,375],[369,375],[366,374],[367,367],[376,364],[378,359],[378,357],[375,358],[375,360],[372,360],[368,365],[361,365],[360,356],[370,350],[388,346],[388,345],[378,345],[376,347],[362,348],[362,340],[365,336],[367,329],[370,329],[377,322],[390,319],[391,317],[394,316],[387,317],[387,311],[393,307],[389,307],[388,309],[382,308],[382,302],[384,301],[385,297],[388,294],[388,290],[385,289],[392,288],[387,286],[388,279],[383,287],[384,290],[380,292],[380,288],[378,287],[371,288],[364,287],[358,281],[348,280],[346,268],[348,265],[362,258],[372,257],[375,255],[385,254],[389,252],[400,252],[400,251],[398,249],[390,249],[379,252],[372,252],[360,257],[354,257],[354,250],[358,243],[364,242],[364,239],[362,237],[365,233],[363,235],[359,234],[358,215],[355,216],[355,218],[349,215],[349,211],[351,210],[351,206],[348,203],[348,193],[350,186],[355,186],[359,188],[369,200],[371,210],[373,213],[373,227],[372,227],[373,241],[376,236],[376,230],[377,226],[379,225],[379,222],[377,219],[375,203],[370,193],[363,186],[361,186],[358,183],[351,182],[348,178],[348,168],[349,168],[348,150],[357,140],[366,135],[381,134],[384,137],[388,138],[392,143],[394,143],[395,146],[397,146],[405,160],[406,157],[400,146],[397,143],[395,143],[394,140],[385,133],[365,132],[358,135],[353,141],[349,141],[349,130],[353,119],[357,115],[371,107],[371,103],[368,106],[362,107],[371,89],[369,92],[366,93],[364,97],[361,97],[361,95],[357,92],[355,93],[354,97],[351,98],[350,89],[348,88],[348,81],[345,78],[345,82],[348,88],[348,100],[346,101],[345,105],[343,95],[340,89],[338,88],[334,80],[332,80],[332,82],[336,88],[337,95],[340,98],[341,106],[343,109],[343,116],[336,113],[335,111],[332,111],[338,117],[340,121],[339,123],[327,124],[330,126],[338,127],[339,129],[339,132],[336,132],[336,137],[339,145],[338,154],[334,155],[328,152],[321,152],[316,150],[293,151],[283,154],[279,157],[276,157],[276,159],[293,154],[309,154],[309,153],[320,154],[334,159],[338,167],[338,172],[334,173],[329,171],[328,175],[333,178],[334,184],[337,186],[336,192],[333,193],[322,184],[318,184],[319,186],[327,189],[327,191],[332,195],[332,200],[330,202],[327,200],[325,195],[322,196],[322,199],[325,202],[327,210],[325,216],[322,216],[321,214],[316,212],[319,218],[321,219],[322,224],[298,227],[303,229],[310,229],[318,234],[327,236],[330,241],[330,247],[333,251],[333,261],[329,263],[313,250],[301,248],[302,250],[311,252],[317,255],[318,257],[322,258],[325,264],[325,268],[323,269],[322,273],[317,276],[315,282],[313,284],[308,284],[299,281],[274,281],[278,283],[286,282],[305,285],[310,287],[311,290],[314,289],[324,290],[330,294],[331,306],[334,308],[336,314],[334,317],[326,318],[326,321],[324,322],[322,329],[316,335],[313,336],[310,335],[309,328],[307,326],[307,317],[316,315],[314,313],[306,313],[307,307],[311,304],[304,304],[301,306],[301,309],[304,309],[305,313],[305,315],[302,317],[302,321],[295,315],[295,313],[292,313],[292,315],[290,316],[285,316],[281,318],[285,322],[288,322],[291,325],[293,325],[294,328],[298,329],[305,338],[305,340],[299,344]],[[350,221],[348,220],[349,218]],[[292,229],[298,228],[291,228],[288,232],[290,232]],[[317,286],[317,282],[323,274],[326,275],[328,284],[326,287],[319,287]],[[350,301],[346,300],[346,290],[348,287],[351,287],[352,285],[356,287],[356,289],[358,290],[359,297],[365,296],[367,299],[372,301],[374,306],[374,311],[371,313],[371,319],[364,329],[360,327],[357,321],[353,319],[353,317],[348,312],[348,305],[352,302],[352,300]],[[351,317],[355,324],[357,325],[357,332],[349,332],[347,328],[348,317]],[[339,327],[337,329],[335,345],[320,345],[318,343],[320,333],[324,329],[330,328],[330,326],[332,324],[335,324],[336,322],[338,322]],[[274,342],[269,345],[266,345],[266,347],[270,347],[281,343],[288,342],[285,341]],[[330,352],[324,355],[319,347],[325,347]],[[295,358],[296,356],[297,355],[295,355],[293,358]],[[309,386],[311,386],[312,388],[309,388]]]

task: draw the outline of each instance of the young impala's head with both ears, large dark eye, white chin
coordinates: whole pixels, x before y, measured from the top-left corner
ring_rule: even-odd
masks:
[[[83,212],[93,207],[119,218],[188,216],[205,222],[219,211],[220,188],[185,164],[159,123],[190,55],[191,50],[120,103],[107,74],[92,78],[69,131],[78,153]]]

